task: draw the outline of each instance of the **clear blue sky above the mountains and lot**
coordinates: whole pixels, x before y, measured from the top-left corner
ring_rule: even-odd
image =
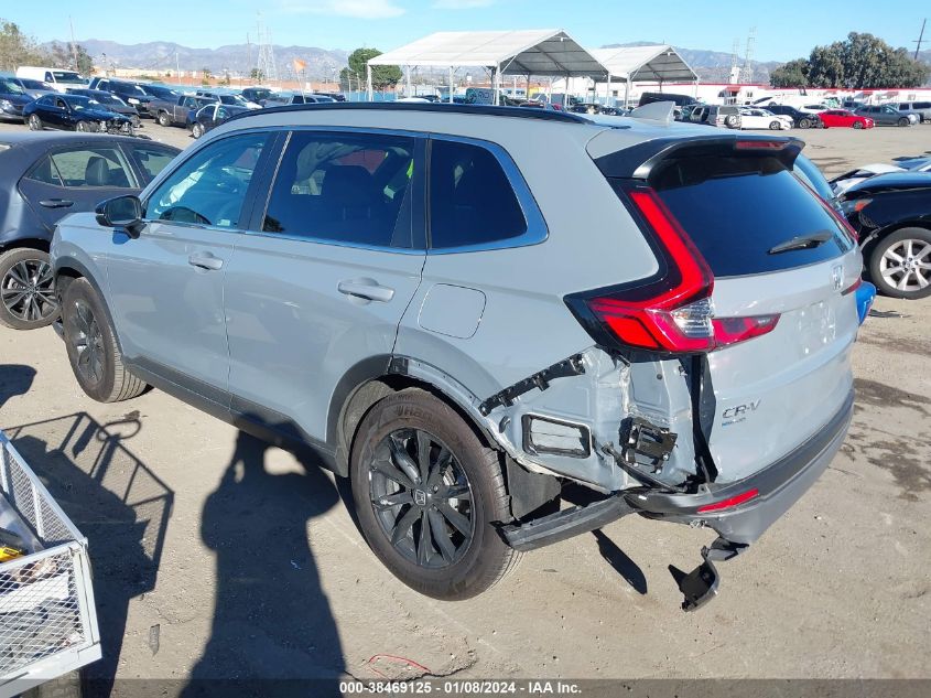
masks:
[[[122,9],[100,0],[45,0],[41,11],[30,2],[3,4],[0,18],[40,41],[66,40],[71,15],[78,41],[194,47],[245,43],[247,33],[255,40],[258,10],[277,44],[346,50],[386,51],[440,30],[559,28],[588,46],[656,41],[729,53],[734,40],[743,46],[756,26],[760,61],[804,55],[851,31],[913,49],[924,7],[900,0],[143,0]]]

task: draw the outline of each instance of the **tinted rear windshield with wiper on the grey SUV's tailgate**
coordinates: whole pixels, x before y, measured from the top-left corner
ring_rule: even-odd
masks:
[[[776,158],[676,158],[650,184],[716,277],[778,271],[848,251],[849,238],[812,192]],[[772,254],[792,238],[830,232],[815,247]]]

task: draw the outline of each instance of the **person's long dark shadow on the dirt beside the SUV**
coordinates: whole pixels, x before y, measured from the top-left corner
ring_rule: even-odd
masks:
[[[213,630],[183,696],[338,696],[339,634],[307,538],[338,502],[313,457],[269,472],[274,449],[239,432],[201,536],[216,554]],[[230,680],[231,679],[231,680]]]

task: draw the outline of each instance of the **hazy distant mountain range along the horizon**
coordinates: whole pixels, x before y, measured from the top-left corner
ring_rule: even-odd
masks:
[[[61,42],[64,43],[64,42]],[[208,68],[214,75],[229,72],[230,75],[249,75],[258,63],[256,44],[230,44],[217,49],[192,49],[173,42],[153,41],[142,44],[121,44],[115,41],[88,39],[78,42],[94,58],[95,64],[116,65],[117,67],[140,68],[140,73],[155,69],[202,71]],[[629,42],[608,44],[605,49],[621,46],[642,46],[656,42]],[[46,44],[47,45],[47,44]],[[306,63],[306,75],[311,78],[332,78],[346,66],[348,51],[342,49],[320,49],[315,46],[272,46],[279,77],[289,77],[293,61]],[[675,47],[679,54],[691,65],[699,77],[706,83],[728,80],[732,55],[723,51]],[[920,56],[931,63],[931,51],[922,51]],[[737,65],[743,65],[744,57],[738,56]],[[767,83],[771,71],[782,65],[781,61],[751,61],[753,82]]]

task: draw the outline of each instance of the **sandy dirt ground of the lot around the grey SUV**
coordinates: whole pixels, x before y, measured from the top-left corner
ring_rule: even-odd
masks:
[[[797,135],[829,175],[931,151],[931,126]],[[667,566],[692,569],[714,534],[637,517],[527,555],[478,599],[421,597],[368,550],[342,483],[158,390],[90,401],[51,329],[0,329],[0,428],[90,539],[104,686],[422,674],[407,659],[457,678],[931,678],[931,302],[876,310],[843,451],[693,614]]]

